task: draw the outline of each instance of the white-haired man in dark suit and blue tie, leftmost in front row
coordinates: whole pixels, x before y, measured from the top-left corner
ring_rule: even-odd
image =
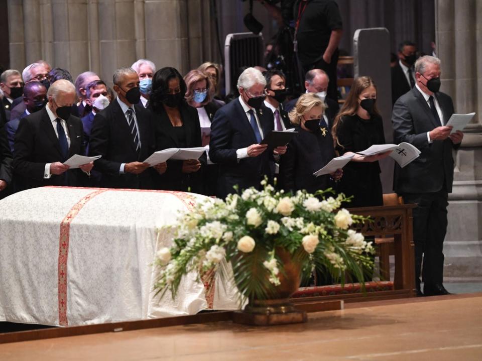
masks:
[[[81,186],[92,162],[80,169],[64,165],[75,154],[82,155],[82,122],[71,116],[75,88],[57,80],[47,92],[48,104],[21,119],[14,143],[14,173],[20,189],[46,185]]]

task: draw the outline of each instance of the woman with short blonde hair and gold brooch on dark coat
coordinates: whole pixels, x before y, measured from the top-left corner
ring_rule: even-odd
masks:
[[[289,113],[298,134],[281,157],[279,181],[280,187],[286,191],[306,189],[314,193],[332,186],[332,180],[339,180],[342,176],[341,169],[331,177],[313,175],[335,157],[331,134],[326,127],[320,126],[324,111],[323,100],[314,93],[306,93],[300,96]]]

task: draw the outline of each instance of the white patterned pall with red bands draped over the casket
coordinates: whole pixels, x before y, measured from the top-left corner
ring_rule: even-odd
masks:
[[[154,297],[156,252],[170,247],[185,192],[43,187],[0,201],[0,321],[67,326],[239,307],[234,287],[185,277]],[[210,292],[206,292],[206,289]]]

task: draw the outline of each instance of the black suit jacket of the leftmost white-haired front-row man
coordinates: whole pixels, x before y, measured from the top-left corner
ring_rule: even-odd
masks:
[[[83,155],[82,122],[71,115],[66,121],[70,137],[67,159],[74,154]],[[68,170],[64,174],[52,174],[44,179],[46,163],[65,162],[60,144],[55,135],[46,108],[20,119],[14,141],[14,173],[18,189],[29,189],[46,185],[82,186],[87,176],[80,169]]]

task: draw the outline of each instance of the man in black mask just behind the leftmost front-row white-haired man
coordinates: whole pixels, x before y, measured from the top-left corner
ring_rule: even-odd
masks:
[[[11,119],[9,123],[5,125],[7,129],[7,137],[9,139],[10,149],[12,153],[14,152],[14,139],[17,129],[19,128],[20,119],[25,118],[27,115],[39,111],[45,106],[47,102],[47,89],[42,83],[38,81],[31,81],[27,83],[24,87],[24,103],[25,111],[24,113],[16,118]]]

